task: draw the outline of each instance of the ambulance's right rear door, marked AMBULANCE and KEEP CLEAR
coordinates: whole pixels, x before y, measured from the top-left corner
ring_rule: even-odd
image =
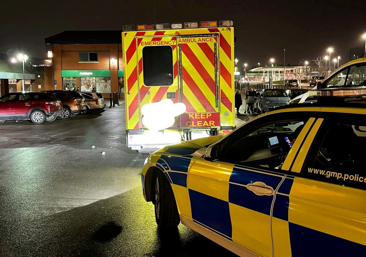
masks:
[[[179,94],[187,113],[184,129],[220,127],[218,37],[216,34],[177,36],[180,59]]]

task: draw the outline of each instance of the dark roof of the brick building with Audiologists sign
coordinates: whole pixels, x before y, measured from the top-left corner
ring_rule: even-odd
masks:
[[[122,44],[121,30],[67,30],[45,38],[46,44]]]

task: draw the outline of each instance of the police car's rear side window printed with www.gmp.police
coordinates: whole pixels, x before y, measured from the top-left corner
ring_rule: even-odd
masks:
[[[330,126],[303,176],[366,190],[366,123]]]

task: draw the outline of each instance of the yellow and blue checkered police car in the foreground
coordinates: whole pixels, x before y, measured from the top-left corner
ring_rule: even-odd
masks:
[[[158,228],[182,222],[239,256],[366,256],[366,87],[309,95],[150,154]]]

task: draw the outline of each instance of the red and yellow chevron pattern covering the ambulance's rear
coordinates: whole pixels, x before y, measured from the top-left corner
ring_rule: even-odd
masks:
[[[197,37],[192,37],[194,35]],[[175,93],[173,102],[186,104],[188,113],[220,112],[221,126],[235,126],[232,27],[128,31],[122,32],[122,45],[126,129],[143,128],[141,107],[166,99],[167,92]],[[171,86],[146,86],[143,83],[142,48],[154,45],[172,47]]]

